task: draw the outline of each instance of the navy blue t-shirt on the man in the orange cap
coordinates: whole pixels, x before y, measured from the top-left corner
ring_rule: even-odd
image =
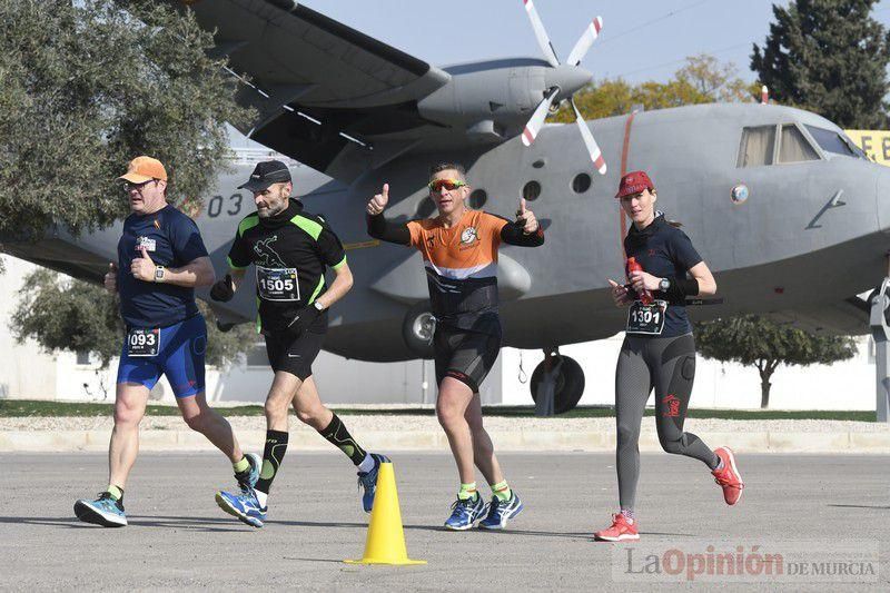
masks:
[[[207,256],[198,226],[170,205],[150,215],[131,214],[118,241],[120,316],[128,327],[166,327],[198,313],[195,289],[137,280],[130,264],[145,245],[156,266],[178,268]]]

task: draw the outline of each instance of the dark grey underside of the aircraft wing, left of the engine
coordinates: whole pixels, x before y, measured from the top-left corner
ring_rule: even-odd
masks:
[[[269,148],[348,181],[402,154],[417,129],[441,127],[416,102],[451,77],[423,60],[294,0],[185,3],[216,31],[216,55],[249,81],[238,101],[258,117],[241,131]]]

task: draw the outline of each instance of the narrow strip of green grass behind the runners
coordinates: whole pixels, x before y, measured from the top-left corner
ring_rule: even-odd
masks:
[[[224,416],[261,416],[261,405],[217,407]],[[506,417],[534,417],[532,406],[484,406],[486,416]],[[46,402],[34,399],[0,399],[0,417],[40,417],[40,416],[110,416],[112,404],[88,404],[75,402]],[[340,416],[432,416],[435,412],[431,408],[399,408],[399,409],[356,409],[338,408]],[[653,416],[654,409],[646,409],[646,416]],[[149,405],[148,416],[178,416],[179,408],[170,405]],[[580,406],[575,409],[556,416],[556,418],[607,418],[614,417],[611,406]],[[772,411],[772,409],[690,409],[690,418],[719,418],[730,421],[775,421],[775,419],[817,419],[817,421],[857,421],[876,422],[874,412],[861,411]]]

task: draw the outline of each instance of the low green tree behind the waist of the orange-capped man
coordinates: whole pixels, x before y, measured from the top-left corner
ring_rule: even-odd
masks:
[[[224,333],[217,329],[210,307],[200,300],[198,306],[207,319],[208,365],[228,367],[256,343],[251,324]],[[10,325],[19,343],[33,338],[46,352],[93,353],[101,368],[120,355],[125,332],[116,295],[48,269],[34,270],[24,278]]]

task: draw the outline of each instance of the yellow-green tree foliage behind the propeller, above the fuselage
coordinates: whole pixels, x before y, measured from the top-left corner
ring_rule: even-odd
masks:
[[[587,119],[630,113],[642,105],[645,109],[665,109],[684,105],[751,100],[759,93],[735,76],[735,66],[720,63],[702,53],[686,58],[686,63],[668,82],[647,81],[632,86],[617,78],[590,85],[575,93],[575,105]],[[562,106],[554,121],[571,122],[575,116],[571,106]]]

